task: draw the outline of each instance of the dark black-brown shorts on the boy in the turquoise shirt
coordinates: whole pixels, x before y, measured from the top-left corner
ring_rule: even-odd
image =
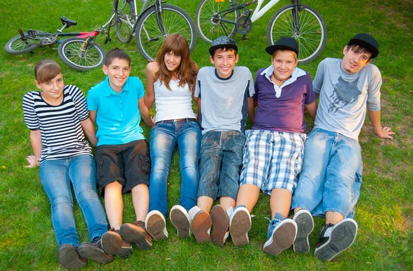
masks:
[[[145,140],[120,145],[100,145],[96,148],[96,183],[100,197],[107,184],[118,181],[122,193],[138,184],[149,184],[151,159]]]

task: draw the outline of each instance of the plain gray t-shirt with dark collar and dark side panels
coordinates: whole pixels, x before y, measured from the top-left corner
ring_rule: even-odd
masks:
[[[253,76],[247,67],[234,67],[229,78],[220,78],[215,67],[202,67],[195,87],[195,97],[201,98],[198,122],[202,134],[213,130],[244,132],[248,97],[253,95]]]

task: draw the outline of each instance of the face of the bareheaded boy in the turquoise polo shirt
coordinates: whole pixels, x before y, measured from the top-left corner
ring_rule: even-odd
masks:
[[[131,73],[131,67],[129,62],[125,59],[114,58],[114,61],[109,66],[103,65],[103,73],[109,76],[109,85],[114,91],[119,93],[123,89],[129,74]]]

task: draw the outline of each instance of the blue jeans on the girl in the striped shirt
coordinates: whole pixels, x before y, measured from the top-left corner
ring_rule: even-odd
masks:
[[[52,223],[59,246],[78,246],[79,237],[73,215],[74,195],[86,220],[89,239],[107,230],[105,212],[96,194],[96,165],[92,155],[78,155],[60,160],[45,160],[40,165],[40,179],[52,208]]]

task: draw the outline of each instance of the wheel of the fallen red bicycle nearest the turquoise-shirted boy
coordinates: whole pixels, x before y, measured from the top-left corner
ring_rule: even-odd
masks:
[[[57,50],[59,57],[67,66],[77,71],[88,71],[103,65],[105,51],[96,43],[89,43],[85,53],[81,51],[86,39],[65,39]]]

